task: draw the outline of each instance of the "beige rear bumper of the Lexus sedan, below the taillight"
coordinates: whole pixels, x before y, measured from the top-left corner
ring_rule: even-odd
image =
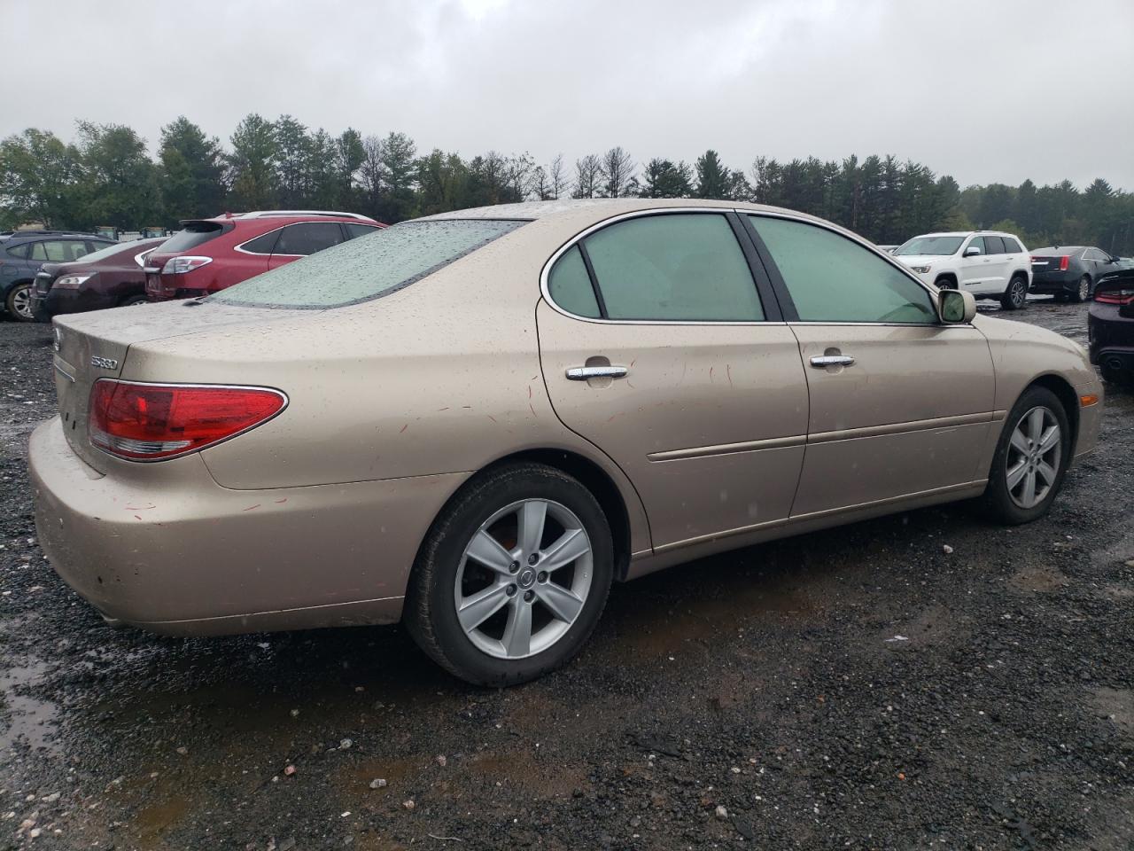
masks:
[[[177,635],[398,621],[417,547],[468,475],[230,490],[200,455],[103,475],[59,418],[28,461],[56,572],[104,617]]]

